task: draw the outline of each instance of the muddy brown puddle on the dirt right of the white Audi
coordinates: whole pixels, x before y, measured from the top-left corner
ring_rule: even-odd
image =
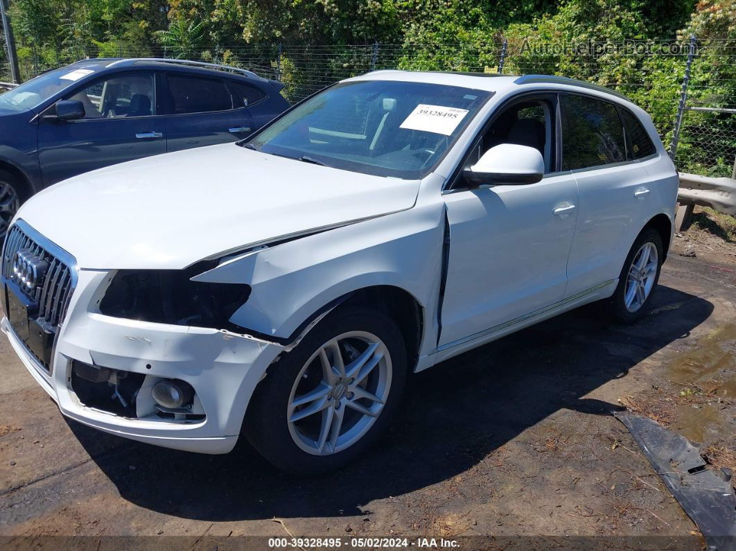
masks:
[[[667,377],[670,381],[702,389],[677,385],[681,391],[712,392],[714,402],[680,403],[673,428],[699,443],[725,434],[729,427],[723,423],[723,403],[717,402],[718,398],[736,399],[736,324],[721,327],[701,339],[695,348],[674,358],[668,366]]]

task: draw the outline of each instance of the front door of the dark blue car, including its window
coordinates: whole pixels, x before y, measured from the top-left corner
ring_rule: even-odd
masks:
[[[38,160],[44,185],[166,153],[166,126],[157,107],[153,73],[101,77],[63,99],[82,102],[85,117],[64,123],[39,118]]]

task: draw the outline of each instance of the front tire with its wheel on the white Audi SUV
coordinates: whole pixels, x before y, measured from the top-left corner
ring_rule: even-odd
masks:
[[[342,374],[334,367],[337,350]],[[300,476],[333,472],[359,458],[389,425],[406,371],[406,346],[389,316],[340,308],[269,366],[241,432],[278,469]]]

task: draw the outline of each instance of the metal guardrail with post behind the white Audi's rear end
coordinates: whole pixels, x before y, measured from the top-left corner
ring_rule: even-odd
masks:
[[[710,178],[681,173],[677,202],[680,206],[675,225],[679,231],[690,227],[695,205],[736,216],[736,178]]]

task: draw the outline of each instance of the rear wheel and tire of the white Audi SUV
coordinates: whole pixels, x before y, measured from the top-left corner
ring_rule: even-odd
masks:
[[[641,263],[642,255],[649,255],[648,261],[645,262],[644,269],[649,276],[642,277],[642,272],[634,274],[634,279],[629,277],[630,272],[634,269],[634,261]],[[655,260],[651,255],[656,253]],[[657,290],[659,283],[659,273],[662,271],[662,260],[664,259],[664,250],[662,247],[662,236],[657,230],[645,229],[634,240],[629,255],[623,263],[620,276],[618,278],[618,286],[609,301],[609,310],[613,319],[623,324],[632,324],[646,316],[651,310],[651,300],[654,291]],[[638,269],[638,267],[637,267]],[[652,271],[654,270],[654,273]],[[631,285],[634,285],[633,299],[631,298]],[[638,283],[638,284],[637,284]],[[642,294],[639,294],[637,287],[641,288]],[[643,296],[643,301],[641,300]]]

